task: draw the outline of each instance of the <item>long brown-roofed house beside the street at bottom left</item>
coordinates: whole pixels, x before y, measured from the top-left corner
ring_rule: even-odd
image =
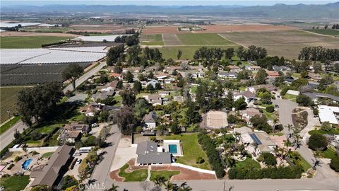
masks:
[[[53,187],[57,185],[68,170],[69,164],[73,161],[73,153],[72,146],[59,146],[46,165],[37,166],[37,168],[32,170],[32,173],[30,173],[32,184],[30,186],[48,185]]]

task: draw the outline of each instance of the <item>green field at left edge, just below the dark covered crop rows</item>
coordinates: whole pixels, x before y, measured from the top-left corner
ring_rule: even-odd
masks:
[[[11,112],[11,116],[16,112],[16,96],[23,87],[1,87],[0,88],[0,122],[4,122],[9,119],[7,110]]]

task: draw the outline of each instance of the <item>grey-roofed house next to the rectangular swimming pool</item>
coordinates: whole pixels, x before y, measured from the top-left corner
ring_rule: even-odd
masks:
[[[162,147],[157,147],[153,141],[143,141],[136,147],[136,163],[138,165],[169,164],[172,156],[163,152]]]

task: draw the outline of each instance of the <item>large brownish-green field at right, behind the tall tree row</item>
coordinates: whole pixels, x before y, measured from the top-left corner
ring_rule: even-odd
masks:
[[[339,40],[335,37],[316,35],[301,30],[269,31],[269,32],[234,32],[222,33],[228,40],[239,45],[256,45],[265,47],[271,56],[297,59],[300,50],[307,46],[323,46],[338,48]]]

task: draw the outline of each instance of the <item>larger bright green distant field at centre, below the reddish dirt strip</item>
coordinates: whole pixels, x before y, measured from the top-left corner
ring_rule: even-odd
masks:
[[[184,45],[215,45],[215,46],[234,46],[233,42],[226,40],[218,34],[177,34],[177,37]]]

